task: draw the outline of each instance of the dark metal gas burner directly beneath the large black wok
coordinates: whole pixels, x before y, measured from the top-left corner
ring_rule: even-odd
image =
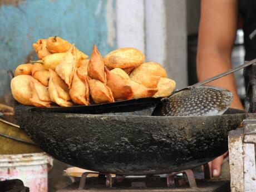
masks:
[[[208,166],[205,166],[208,170]],[[72,181],[75,181],[73,176]],[[73,174],[74,175],[74,174]],[[76,176],[78,176],[76,174]],[[209,177],[209,174],[205,175]],[[82,173],[80,181],[74,182],[57,192],[101,192],[101,191],[154,191],[154,192],[195,192],[195,191],[227,191],[230,182],[227,179],[195,179],[192,170],[184,170],[166,175],[120,176],[97,172]]]

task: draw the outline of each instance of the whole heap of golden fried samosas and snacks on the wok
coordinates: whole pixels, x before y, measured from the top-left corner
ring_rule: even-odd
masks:
[[[40,60],[19,65],[11,81],[12,95],[23,105],[67,107],[168,97],[175,88],[165,69],[144,63],[136,48],[119,48],[103,58],[94,45],[90,60],[57,36],[38,40],[33,48]]]

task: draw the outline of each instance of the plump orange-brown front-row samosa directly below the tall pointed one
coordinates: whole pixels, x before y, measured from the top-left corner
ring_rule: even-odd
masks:
[[[114,97],[109,87],[99,80],[88,78],[90,94],[96,104],[114,102]]]

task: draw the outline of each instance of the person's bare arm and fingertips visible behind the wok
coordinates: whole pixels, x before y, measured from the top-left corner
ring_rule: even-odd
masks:
[[[201,0],[201,17],[199,26],[197,73],[198,80],[218,75],[229,70],[231,53],[234,45],[238,22],[238,0]],[[234,99],[231,107],[243,109],[237,94],[234,75],[228,75],[208,85],[227,88],[232,91]],[[227,153],[211,161],[210,170],[218,177],[221,165]]]

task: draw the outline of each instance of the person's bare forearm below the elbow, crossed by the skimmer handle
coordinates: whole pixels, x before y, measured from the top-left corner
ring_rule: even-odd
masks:
[[[215,51],[199,50],[197,56],[197,73],[199,81],[203,81],[206,78],[218,75],[221,72],[229,70],[231,67],[232,65],[230,59],[227,56],[225,57],[225,55],[221,55],[221,53]],[[235,84],[235,78],[233,74],[212,81],[208,83],[208,85],[223,87],[231,91],[234,95],[234,98],[230,107],[243,109],[243,105],[240,102],[239,96],[237,94],[237,86]]]

